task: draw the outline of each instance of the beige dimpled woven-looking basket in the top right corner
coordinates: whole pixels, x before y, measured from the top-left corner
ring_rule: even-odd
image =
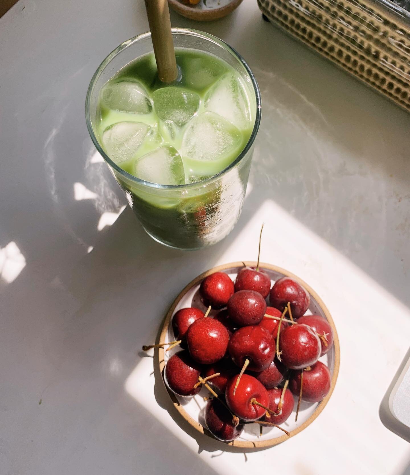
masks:
[[[292,36],[410,111],[410,14],[383,0],[258,0]]]

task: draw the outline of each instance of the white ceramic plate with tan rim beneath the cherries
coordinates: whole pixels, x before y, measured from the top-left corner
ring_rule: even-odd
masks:
[[[256,266],[256,262],[245,262],[245,264],[247,266]],[[201,302],[198,290],[199,290],[199,285],[201,281],[206,276],[209,276],[210,274],[213,274],[214,272],[226,272],[227,274],[230,274],[232,277],[234,277],[234,275],[236,275],[242,267],[243,267],[242,262],[233,262],[230,264],[225,264],[224,266],[214,267],[213,269],[210,269],[204,272],[203,274],[201,274],[200,276],[196,277],[192,282],[186,285],[184,290],[177,296],[174,303],[171,305],[171,308],[169,309],[168,314],[166,315],[164,323],[162,325],[162,329],[160,331],[158,341],[167,342],[167,341],[174,340],[172,325],[170,323],[171,323],[172,316],[175,314],[178,308],[182,308],[185,306],[195,306],[205,311],[206,307]],[[277,266],[261,263],[260,267],[263,268],[266,272],[268,272],[271,280],[273,281],[276,281],[277,279],[283,276],[289,276],[297,280],[301,285],[303,285],[310,294],[309,311],[311,311],[313,314],[318,314],[325,317],[327,321],[329,322],[330,326],[332,327],[332,330],[334,333],[334,343],[333,343],[332,349],[326,355],[320,358],[320,361],[323,361],[323,360],[326,361],[327,366],[329,367],[329,370],[331,373],[332,379],[331,379],[330,391],[326,395],[326,397],[319,403],[316,403],[313,405],[307,405],[305,403],[304,409],[303,409],[304,403],[302,402],[301,409],[303,410],[299,412],[299,418],[298,418],[299,423],[297,424],[292,421],[290,422],[290,425],[295,426],[294,428],[286,427],[286,423],[285,425],[283,425],[283,427],[289,431],[290,437],[293,437],[296,434],[298,434],[300,431],[302,431],[303,429],[307,428],[307,426],[311,424],[317,418],[317,416],[325,408],[327,401],[330,399],[330,396],[332,395],[332,392],[335,388],[335,384],[337,380],[337,374],[339,372],[339,362],[340,362],[339,340],[337,337],[335,324],[333,323],[333,320],[332,320],[332,317],[330,316],[329,311],[327,310],[325,304],[323,304],[320,297],[316,294],[316,292],[312,288],[309,287],[309,285],[306,284],[306,282],[303,282],[297,276]],[[218,311],[213,311],[211,312],[211,314],[216,314],[217,312]],[[156,369],[159,370],[159,371],[156,371],[157,374],[162,375],[163,369],[166,364],[164,359],[166,360],[169,356],[171,356],[177,351],[179,351],[179,348],[174,349],[173,351],[171,350],[170,354],[168,354],[168,352],[165,352],[163,348],[159,348],[158,351],[154,352],[154,365],[157,367]],[[189,424],[192,427],[196,428],[196,430],[198,430],[199,432],[203,434],[207,434],[210,437],[212,437],[212,435],[210,435],[208,430],[206,428],[204,429],[204,427],[200,424],[198,420],[198,416],[196,415],[196,417],[195,416],[193,417],[193,414],[192,414],[193,410],[198,411],[199,402],[202,401],[201,396],[205,396],[209,394],[206,388],[203,388],[203,390],[201,390],[201,393],[194,396],[194,398],[199,397],[199,399],[196,399],[196,401],[194,401],[194,403],[191,406],[191,411],[189,411],[188,410],[189,401],[190,400],[192,401],[192,399],[194,398],[187,399],[187,398],[180,398],[179,396],[176,396],[172,391],[168,390],[168,388],[166,387],[164,383],[163,378],[161,378],[161,380],[163,383],[163,387],[168,391],[168,394],[170,398],[172,399],[172,402],[174,403],[174,406],[179,412],[179,414],[181,415],[181,417],[184,418],[187,422],[189,422]],[[204,402],[204,405],[205,405],[205,402]],[[295,409],[296,409],[296,404],[295,404]],[[191,414],[189,414],[189,412],[191,412]],[[199,415],[199,417],[201,416]],[[292,418],[292,415],[289,417],[289,419],[290,418]],[[275,432],[275,431],[277,433],[277,437],[270,438],[269,432]],[[249,434],[249,433],[246,434],[245,439],[247,438],[249,440],[243,440],[243,437],[241,437],[242,440],[241,438],[238,438],[234,440],[233,442],[230,442],[229,445],[233,447],[244,447],[244,448],[272,447],[274,445],[280,444],[281,442],[284,442],[285,440],[289,439],[289,437],[285,434],[280,435],[283,433],[280,432],[280,430],[277,428],[273,428],[269,432],[265,434],[264,437],[258,437],[258,435],[256,434],[256,429],[255,429],[254,436],[253,434]],[[258,428],[258,433],[259,433],[259,428]]]

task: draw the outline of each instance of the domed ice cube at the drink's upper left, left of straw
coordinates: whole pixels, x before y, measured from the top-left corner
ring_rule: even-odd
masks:
[[[102,92],[102,103],[109,109],[133,114],[149,114],[151,100],[144,86],[137,81],[108,83]]]

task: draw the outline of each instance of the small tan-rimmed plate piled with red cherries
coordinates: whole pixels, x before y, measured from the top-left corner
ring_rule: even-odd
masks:
[[[172,304],[154,364],[178,413],[235,447],[271,447],[324,409],[339,343],[318,295],[270,264],[234,262],[189,283]]]

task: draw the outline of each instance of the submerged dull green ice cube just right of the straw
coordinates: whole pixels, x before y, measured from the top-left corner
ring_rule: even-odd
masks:
[[[190,58],[184,65],[183,79],[188,87],[205,89],[223,72],[224,67],[212,58]]]

